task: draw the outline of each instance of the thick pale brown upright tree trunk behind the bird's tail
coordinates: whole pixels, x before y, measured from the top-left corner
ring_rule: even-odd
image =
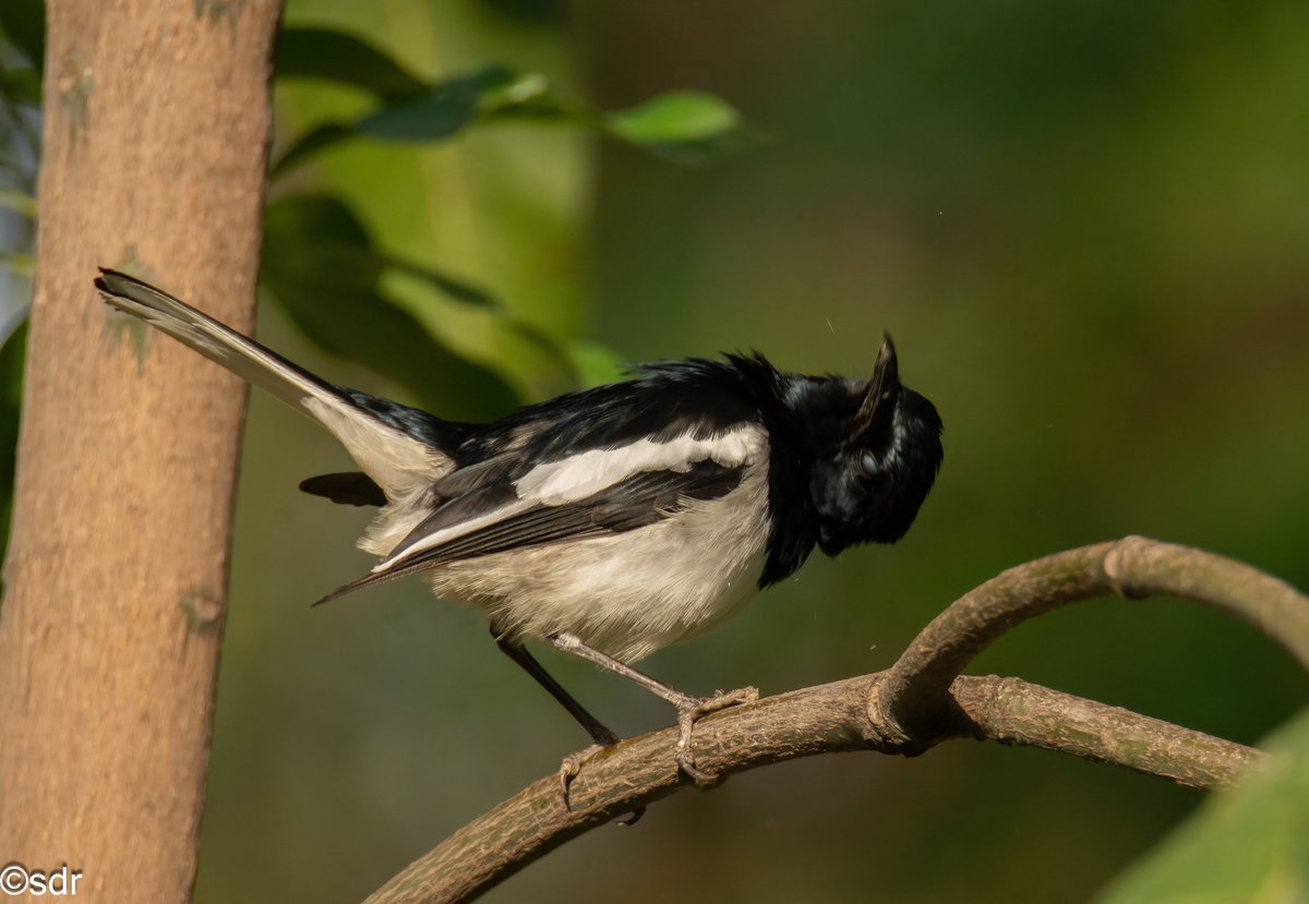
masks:
[[[249,327],[279,0],[50,0],[37,280],[0,608],[0,863],[183,901],[245,390],[99,302],[127,268]]]

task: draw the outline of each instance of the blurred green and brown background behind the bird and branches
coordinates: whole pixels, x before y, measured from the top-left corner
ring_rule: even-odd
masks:
[[[1126,534],[1309,587],[1304,3],[291,0],[285,21],[355,35],[421,80],[503,64],[605,111],[707,92],[741,123],[679,153],[537,110],[308,157],[272,183],[271,211],[330,198],[406,262],[376,290],[420,326],[441,379],[387,365],[385,341],[355,353],[331,335],[356,317],[377,345],[367,307],[297,301],[304,273],[327,294],[339,273],[291,251],[266,263],[259,322],[284,355],[490,419],[623,361],[758,348],[864,374],[889,330],[906,382],[941,411],[945,464],[908,536],[818,556],[644,663],[669,683],[776,693],[885,669],[999,570]],[[279,80],[275,99],[275,158],[378,103],[331,77]],[[22,212],[8,216],[21,263]],[[313,242],[310,220],[276,241]],[[21,307],[21,273],[7,285]],[[308,608],[372,565],[352,549],[365,512],[296,492],[347,466],[251,396],[202,904],[361,899],[588,740],[475,612],[418,580]],[[623,682],[542,659],[623,734],[670,722]],[[1051,614],[974,671],[1244,743],[1309,691],[1255,631],[1173,600]],[[679,794],[487,900],[1079,901],[1200,799],[995,744],[829,756]]]

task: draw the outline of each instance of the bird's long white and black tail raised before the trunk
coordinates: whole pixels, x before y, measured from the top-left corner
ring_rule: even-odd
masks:
[[[186,302],[126,273],[101,269],[96,288],[111,307],[166,332],[326,426],[387,501],[412,497],[453,468],[440,440],[457,425],[319,379]]]

